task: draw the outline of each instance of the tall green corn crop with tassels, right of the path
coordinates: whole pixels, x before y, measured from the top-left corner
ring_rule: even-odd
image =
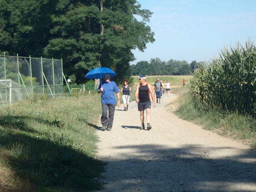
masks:
[[[256,48],[252,43],[224,48],[220,58],[194,72],[192,95],[200,107],[256,116]]]

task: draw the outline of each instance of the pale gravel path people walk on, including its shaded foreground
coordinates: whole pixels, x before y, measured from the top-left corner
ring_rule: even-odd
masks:
[[[98,130],[102,191],[256,192],[256,151],[178,118],[174,99],[151,109],[152,130],[140,130],[135,102],[116,108],[111,131]]]

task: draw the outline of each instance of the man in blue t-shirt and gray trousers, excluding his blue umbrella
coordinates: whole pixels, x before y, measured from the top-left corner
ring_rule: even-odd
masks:
[[[110,74],[104,75],[104,81],[98,87],[98,93],[101,93],[101,105],[102,105],[102,115],[101,115],[101,124],[102,130],[111,131],[114,113],[116,108],[116,93],[118,99],[118,107],[120,107],[120,93],[118,86],[114,81],[110,81]]]

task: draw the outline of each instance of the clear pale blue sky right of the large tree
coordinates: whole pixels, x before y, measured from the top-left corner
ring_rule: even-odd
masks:
[[[141,60],[209,61],[224,47],[256,44],[256,0],[137,0],[153,12],[148,25],[155,42],[146,50],[134,50]]]

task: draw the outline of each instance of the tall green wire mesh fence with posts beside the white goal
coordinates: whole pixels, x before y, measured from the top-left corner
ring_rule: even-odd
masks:
[[[0,55],[0,104],[63,94],[62,60]]]

